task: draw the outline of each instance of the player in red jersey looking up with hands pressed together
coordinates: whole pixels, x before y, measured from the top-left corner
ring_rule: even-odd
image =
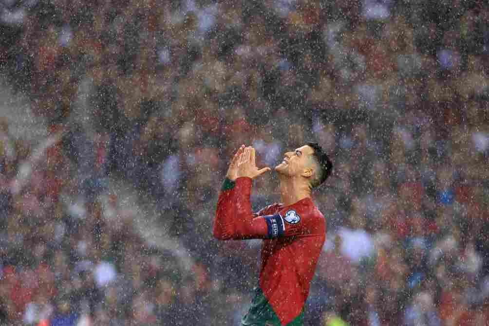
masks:
[[[264,239],[260,282],[243,326],[303,325],[304,303],[326,238],[326,221],[314,206],[311,190],[331,174],[332,163],[316,143],[285,153],[275,167],[282,203],[253,214],[252,180],[258,169],[255,150],[244,145],[231,159],[219,195],[214,237]]]

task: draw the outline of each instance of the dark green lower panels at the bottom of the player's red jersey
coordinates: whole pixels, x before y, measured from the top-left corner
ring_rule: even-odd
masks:
[[[263,295],[260,287],[256,288],[255,297],[251,301],[251,306],[246,315],[241,320],[241,326],[281,326],[280,319]],[[287,326],[303,326],[304,309]]]

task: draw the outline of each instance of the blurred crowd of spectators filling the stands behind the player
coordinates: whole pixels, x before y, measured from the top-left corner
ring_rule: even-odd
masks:
[[[259,240],[212,239],[231,154],[333,175],[307,325],[489,325],[489,5],[4,0],[0,63],[48,122],[0,130],[0,323],[238,325]],[[44,147],[43,147],[44,146]],[[149,246],[108,177],[193,258]],[[272,175],[255,209],[278,201]]]

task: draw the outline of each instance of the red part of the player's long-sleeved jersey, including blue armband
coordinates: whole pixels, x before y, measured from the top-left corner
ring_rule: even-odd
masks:
[[[272,204],[253,214],[251,183],[247,177],[226,179],[217,203],[214,237],[264,239],[260,289],[280,325],[300,325],[293,321],[309,294],[326,239],[325,218],[310,197],[289,206]]]

